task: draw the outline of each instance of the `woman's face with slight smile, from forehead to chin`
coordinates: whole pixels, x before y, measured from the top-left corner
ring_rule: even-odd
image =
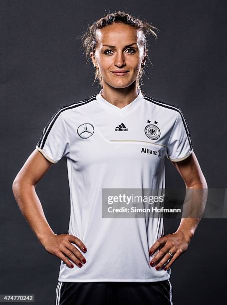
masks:
[[[103,86],[126,88],[138,77],[142,61],[146,60],[143,32],[130,25],[113,23],[96,31],[95,54],[90,53],[99,69]]]

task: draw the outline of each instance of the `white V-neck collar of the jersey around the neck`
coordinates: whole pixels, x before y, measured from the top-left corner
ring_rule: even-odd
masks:
[[[141,90],[137,89],[138,95],[135,98],[135,100],[133,100],[131,103],[124,106],[123,108],[119,108],[119,107],[111,104],[107,100],[105,100],[101,95],[102,91],[103,91],[103,89],[101,89],[100,92],[96,95],[96,100],[99,103],[99,105],[106,108],[107,111],[115,112],[120,115],[131,112],[133,109],[135,109],[140,104],[141,100],[143,100],[143,98],[144,98],[144,95],[142,94]]]

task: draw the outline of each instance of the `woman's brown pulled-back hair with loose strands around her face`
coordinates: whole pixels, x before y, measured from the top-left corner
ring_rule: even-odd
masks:
[[[140,20],[129,13],[126,13],[124,11],[115,11],[113,13],[108,13],[104,17],[100,18],[96,22],[94,22],[91,26],[88,27],[87,31],[85,31],[82,35],[79,36],[79,38],[82,40],[82,47],[84,49],[84,52],[86,54],[87,62],[90,59],[90,52],[95,52],[96,44],[97,44],[97,38],[96,38],[96,30],[101,29],[104,26],[110,25],[112,23],[124,23],[128,24],[130,26],[135,27],[136,29],[140,29],[143,32],[144,37],[144,51],[147,49],[147,35],[152,34],[155,37],[155,40],[157,39],[157,34],[155,33],[155,30],[159,31],[159,29],[151,24],[149,24],[145,20]],[[150,58],[149,58],[150,59]],[[87,64],[86,62],[86,64]],[[142,82],[142,77],[144,75],[144,67],[141,66],[138,80],[137,80],[137,87],[140,88],[140,83]],[[99,69],[96,69],[95,71],[95,80],[98,78],[99,84],[102,87],[102,77],[99,72]]]

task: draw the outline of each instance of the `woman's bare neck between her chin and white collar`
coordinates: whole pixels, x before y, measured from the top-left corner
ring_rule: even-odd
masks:
[[[138,96],[136,82],[126,88],[113,88],[104,83],[102,89],[102,97],[119,108],[127,106]]]

